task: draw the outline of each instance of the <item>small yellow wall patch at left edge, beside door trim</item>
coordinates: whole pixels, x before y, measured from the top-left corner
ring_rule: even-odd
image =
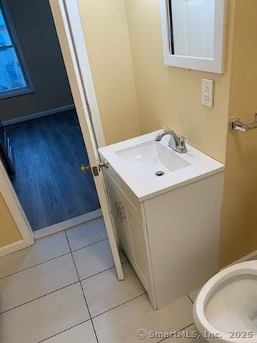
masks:
[[[20,239],[21,235],[0,193],[0,247],[19,241]]]

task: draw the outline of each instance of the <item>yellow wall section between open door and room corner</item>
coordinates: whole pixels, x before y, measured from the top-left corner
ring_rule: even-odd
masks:
[[[124,0],[79,0],[108,144],[140,133]]]

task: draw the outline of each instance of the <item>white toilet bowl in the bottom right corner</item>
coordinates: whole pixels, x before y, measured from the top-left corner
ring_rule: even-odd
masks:
[[[257,343],[257,261],[235,264],[206,282],[193,318],[208,342]]]

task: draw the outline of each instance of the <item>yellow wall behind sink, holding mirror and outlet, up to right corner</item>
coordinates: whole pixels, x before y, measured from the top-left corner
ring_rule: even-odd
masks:
[[[233,33],[233,0],[226,74],[189,71],[163,64],[159,0],[125,0],[138,109],[143,133],[171,126],[193,146],[225,161]],[[215,106],[201,104],[201,79],[215,80]]]

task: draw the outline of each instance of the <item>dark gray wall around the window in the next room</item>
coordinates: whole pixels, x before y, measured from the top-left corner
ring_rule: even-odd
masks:
[[[0,99],[7,120],[73,104],[48,0],[6,0],[34,93]]]

